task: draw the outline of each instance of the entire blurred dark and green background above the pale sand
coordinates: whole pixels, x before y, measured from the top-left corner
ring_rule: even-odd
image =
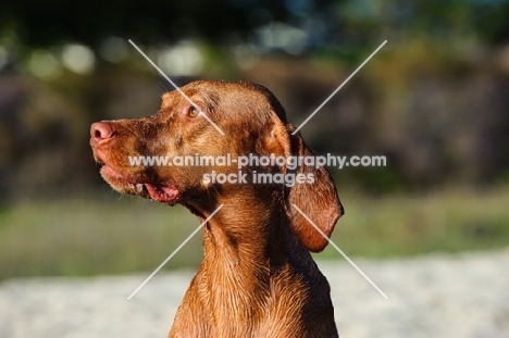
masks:
[[[507,246],[508,0],[115,0],[0,4],[0,278],[157,267],[196,226],[111,189],[92,122],[154,113],[167,82],[251,80],[318,153],[386,155],[331,168],[347,254]],[[451,191],[451,192],[448,192]],[[91,197],[90,197],[91,196]],[[167,265],[196,265],[199,237]],[[326,249],[319,258],[337,258]]]

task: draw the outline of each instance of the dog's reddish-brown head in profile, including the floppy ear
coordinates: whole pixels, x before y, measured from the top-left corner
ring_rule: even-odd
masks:
[[[278,174],[283,181],[264,181],[264,191],[283,191],[286,213],[300,242],[311,251],[323,250],[327,240],[295,206],[331,236],[343,206],[326,168],[287,162],[241,167],[238,163],[249,155],[312,155],[300,134],[293,134],[295,128],[274,95],[250,83],[210,80],[194,82],[181,90],[163,95],[154,115],[91,125],[90,146],[94,158],[102,164],[102,177],[120,192],[196,210],[218,193],[239,189],[239,185],[260,185],[253,178],[256,173]],[[229,165],[213,163],[219,158],[229,159]],[[245,181],[239,181],[241,174]],[[213,177],[226,181],[214,181]]]

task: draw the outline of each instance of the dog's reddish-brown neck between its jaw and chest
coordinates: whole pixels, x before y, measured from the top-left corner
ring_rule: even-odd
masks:
[[[236,265],[269,266],[300,247],[290,228],[283,190],[252,186],[223,190],[202,216],[221,204],[203,225],[206,256]]]

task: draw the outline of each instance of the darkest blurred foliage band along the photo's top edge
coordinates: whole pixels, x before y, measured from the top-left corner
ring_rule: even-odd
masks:
[[[150,45],[183,38],[224,43],[232,33],[247,36],[271,21],[303,28],[321,22],[316,41],[330,45],[365,45],[387,30],[443,41],[473,37],[492,45],[509,36],[508,12],[507,0],[22,0],[1,5],[0,33],[29,47],[77,41],[98,48],[108,36]]]

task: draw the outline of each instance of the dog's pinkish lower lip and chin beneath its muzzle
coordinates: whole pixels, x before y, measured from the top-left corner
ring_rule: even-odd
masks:
[[[109,165],[103,165],[101,176],[108,184],[121,193],[136,195],[161,203],[175,204],[181,191],[175,185],[137,181],[116,172]]]

